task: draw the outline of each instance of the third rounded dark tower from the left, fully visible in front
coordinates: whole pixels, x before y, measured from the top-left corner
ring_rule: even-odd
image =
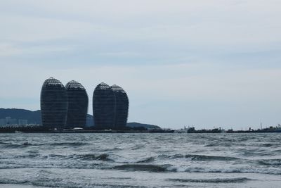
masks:
[[[105,83],[100,83],[93,91],[93,121],[100,130],[115,127],[115,93]]]

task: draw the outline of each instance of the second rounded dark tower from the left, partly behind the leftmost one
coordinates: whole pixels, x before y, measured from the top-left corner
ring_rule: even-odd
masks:
[[[65,128],[85,127],[88,112],[86,89],[74,80],[65,85],[68,96],[67,122]]]

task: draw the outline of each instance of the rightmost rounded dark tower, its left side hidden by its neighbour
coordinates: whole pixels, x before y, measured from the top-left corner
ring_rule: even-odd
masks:
[[[126,128],[129,112],[129,99],[121,87],[112,85],[111,89],[115,93],[116,108],[115,108],[115,130],[124,130]]]

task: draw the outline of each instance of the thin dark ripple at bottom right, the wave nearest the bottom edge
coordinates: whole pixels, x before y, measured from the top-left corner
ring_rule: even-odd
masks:
[[[174,182],[192,182],[192,183],[242,183],[251,179],[247,177],[237,178],[216,178],[216,179],[168,179]]]

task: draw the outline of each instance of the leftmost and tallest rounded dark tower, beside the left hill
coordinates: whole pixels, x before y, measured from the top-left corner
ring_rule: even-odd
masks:
[[[42,124],[49,128],[63,129],[67,120],[67,92],[63,84],[51,77],[41,89]]]

